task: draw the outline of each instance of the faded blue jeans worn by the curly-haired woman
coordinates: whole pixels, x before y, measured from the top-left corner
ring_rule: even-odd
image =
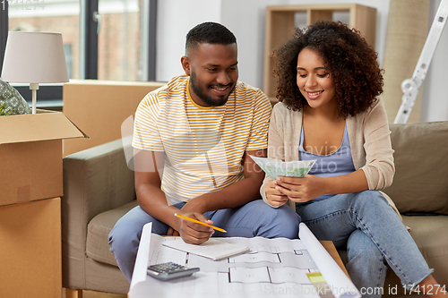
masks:
[[[347,271],[363,297],[381,297],[386,264],[408,289],[432,273],[381,192],[338,194],[297,204],[296,211],[317,239],[347,248]]]

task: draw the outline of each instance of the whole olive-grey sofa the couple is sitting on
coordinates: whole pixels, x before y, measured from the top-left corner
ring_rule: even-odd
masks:
[[[435,268],[435,278],[446,285],[448,122],[392,124],[391,131],[396,175],[385,192],[403,213],[403,222],[429,266]],[[108,250],[110,229],[137,205],[134,173],[126,166],[123,146],[122,140],[115,140],[64,158],[65,288],[127,294],[129,284]],[[389,271],[386,289],[399,282]],[[398,290],[402,292],[400,284]]]

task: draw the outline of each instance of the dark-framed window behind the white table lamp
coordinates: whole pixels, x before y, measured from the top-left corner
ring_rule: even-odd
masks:
[[[70,79],[155,80],[157,0],[0,0],[0,68],[9,30],[61,32]],[[29,86],[15,85],[30,102]],[[62,85],[38,106],[62,106]]]

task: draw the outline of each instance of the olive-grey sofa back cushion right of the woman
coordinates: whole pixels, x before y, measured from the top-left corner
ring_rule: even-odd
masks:
[[[403,212],[448,215],[448,122],[391,124],[396,173],[383,192]]]

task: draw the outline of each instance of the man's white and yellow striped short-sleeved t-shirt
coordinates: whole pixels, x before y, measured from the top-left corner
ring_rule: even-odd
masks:
[[[188,83],[182,75],[148,93],[134,120],[133,147],[165,152],[161,189],[173,202],[243,179],[245,151],[267,148],[271,103],[260,89],[238,81],[224,106],[198,106]]]

